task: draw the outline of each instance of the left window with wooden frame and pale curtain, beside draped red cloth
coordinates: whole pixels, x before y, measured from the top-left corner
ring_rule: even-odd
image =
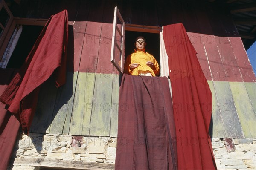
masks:
[[[20,68],[47,20],[15,18],[0,1],[0,68]]]

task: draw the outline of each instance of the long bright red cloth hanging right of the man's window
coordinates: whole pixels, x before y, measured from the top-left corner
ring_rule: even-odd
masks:
[[[216,170],[209,124],[212,93],[182,23],[163,27],[172,84],[179,170]]]

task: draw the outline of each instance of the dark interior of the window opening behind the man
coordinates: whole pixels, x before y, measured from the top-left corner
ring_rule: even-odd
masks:
[[[147,42],[145,47],[146,52],[153,55],[160,66],[160,38],[157,33],[148,32],[135,32],[135,31],[125,31],[125,59],[128,55],[134,52],[136,47],[134,46],[135,38],[138,36],[143,36]],[[160,75],[159,75],[160,76]]]

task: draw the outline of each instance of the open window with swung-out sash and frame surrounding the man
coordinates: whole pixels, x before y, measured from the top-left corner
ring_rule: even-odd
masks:
[[[162,33],[163,29],[159,26],[125,24],[119,10],[115,7],[111,62],[123,74],[125,56],[133,52],[134,39],[142,35],[147,40],[147,52],[154,56],[160,66],[160,76],[168,77],[168,56],[165,51]]]

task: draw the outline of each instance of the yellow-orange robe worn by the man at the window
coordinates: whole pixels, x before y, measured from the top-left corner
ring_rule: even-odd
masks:
[[[147,61],[151,61],[154,63],[156,70],[151,69],[146,63]],[[132,63],[138,63],[139,66],[133,70],[130,69],[130,65]],[[125,60],[125,73],[131,75],[139,75],[139,71],[149,72],[152,76],[159,75],[159,65],[153,55],[143,51],[136,51],[134,49],[134,53],[128,55]]]

